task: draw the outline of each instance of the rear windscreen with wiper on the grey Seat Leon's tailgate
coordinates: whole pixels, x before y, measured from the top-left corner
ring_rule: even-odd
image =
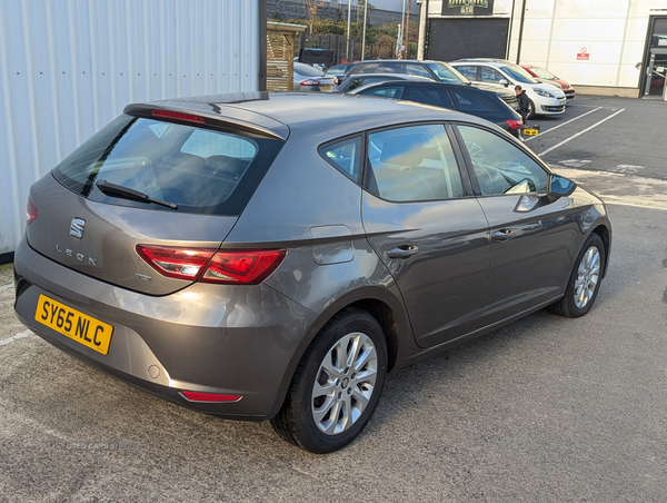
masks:
[[[58,181],[94,201],[173,209],[112,197],[97,181],[176,205],[178,211],[239,215],[282,141],[233,130],[122,115],[53,169]]]

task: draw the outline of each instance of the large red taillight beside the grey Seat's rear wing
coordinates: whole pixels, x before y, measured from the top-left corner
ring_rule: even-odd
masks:
[[[285,249],[216,250],[137,245],[162,276],[225,285],[258,285],[280,265]]]

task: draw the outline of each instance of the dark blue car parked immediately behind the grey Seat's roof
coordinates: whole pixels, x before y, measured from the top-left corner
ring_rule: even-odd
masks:
[[[518,131],[521,127],[521,116],[512,110],[497,91],[472,86],[394,80],[364,86],[350,93],[416,101],[462,111],[494,122],[515,137],[519,136]]]

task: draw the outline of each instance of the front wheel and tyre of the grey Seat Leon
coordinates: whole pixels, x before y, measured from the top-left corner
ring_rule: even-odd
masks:
[[[600,237],[597,234],[588,236],[575,262],[565,297],[551,305],[554,313],[577,318],[590,310],[600,289],[605,257],[605,244]]]

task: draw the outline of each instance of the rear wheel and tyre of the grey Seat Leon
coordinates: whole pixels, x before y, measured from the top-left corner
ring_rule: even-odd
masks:
[[[386,375],[387,343],[378,322],[365,310],[341,312],[306,349],[271,425],[306,451],[337,451],[370,420]]]

